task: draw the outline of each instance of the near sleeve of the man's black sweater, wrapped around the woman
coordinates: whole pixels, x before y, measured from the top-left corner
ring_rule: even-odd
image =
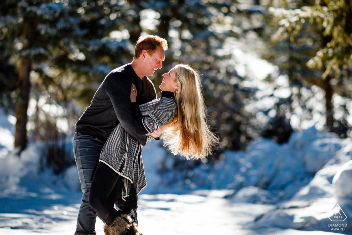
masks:
[[[126,74],[113,73],[107,77],[105,90],[113,104],[117,119],[124,130],[144,146],[147,142],[147,137],[138,135],[133,124],[130,100],[131,85],[131,81]]]

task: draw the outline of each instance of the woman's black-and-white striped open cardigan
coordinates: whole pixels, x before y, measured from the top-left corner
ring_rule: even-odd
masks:
[[[155,99],[141,104],[139,108],[143,116],[143,125],[148,133],[171,123],[177,115],[177,104],[173,97]],[[149,135],[147,137],[147,142],[150,142],[152,137]],[[140,193],[147,186],[142,148],[138,141],[123,129],[121,124],[113,129],[105,142],[99,161],[124,177],[122,199],[125,200],[129,195],[131,184],[134,184],[137,193]]]

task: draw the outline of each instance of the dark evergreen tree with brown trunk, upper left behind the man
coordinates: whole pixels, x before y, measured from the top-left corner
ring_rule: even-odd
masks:
[[[15,147],[22,150],[27,144],[31,80],[42,84],[57,102],[77,96],[91,99],[95,88],[90,83],[101,81],[109,66],[131,58],[121,31],[120,37],[107,37],[119,30],[128,8],[123,3],[102,0],[0,3],[0,48],[6,48],[19,81]],[[84,88],[77,88],[80,85]]]

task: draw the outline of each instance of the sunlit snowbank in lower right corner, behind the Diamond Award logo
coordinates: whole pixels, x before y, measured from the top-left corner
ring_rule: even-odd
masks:
[[[278,202],[278,208],[263,214],[252,224],[253,227],[320,230],[343,234],[352,232],[351,140],[320,140],[314,142],[324,143],[320,146],[325,152],[321,158],[318,156],[313,159],[320,158],[323,161],[327,156],[326,152],[333,153],[331,149],[340,150],[333,154],[334,158],[321,163],[320,170],[308,185],[300,188],[290,200]]]

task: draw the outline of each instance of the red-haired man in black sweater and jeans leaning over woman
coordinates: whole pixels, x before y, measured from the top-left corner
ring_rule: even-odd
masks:
[[[97,214],[89,206],[89,191],[94,167],[99,161],[101,149],[113,128],[121,123],[125,131],[141,145],[145,145],[147,137],[136,134],[133,125],[130,92],[132,83],[138,91],[137,103],[143,104],[156,99],[151,76],[162,67],[165,60],[167,41],[158,36],[146,35],[137,41],[134,59],[131,64],[112,70],[96,91],[91,105],[76,123],[73,138],[74,157],[77,163],[79,179],[83,191],[82,205],[77,218],[75,235],[93,235]],[[150,136],[158,138],[155,131]],[[116,206],[122,209],[121,200]]]

